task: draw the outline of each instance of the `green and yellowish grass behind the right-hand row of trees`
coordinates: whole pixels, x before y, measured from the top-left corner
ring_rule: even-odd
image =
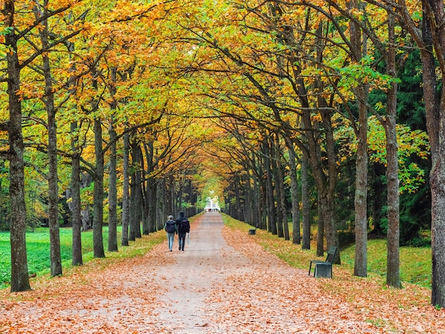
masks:
[[[226,225],[242,230],[247,234],[252,228],[244,222],[235,220],[227,215],[223,215]],[[291,224],[289,231],[291,231]],[[311,242],[311,249],[303,250],[300,244],[292,244],[284,238],[272,235],[263,230],[257,230],[256,241],[268,252],[277,255],[289,265],[299,269],[309,269],[311,259],[316,257],[316,242]],[[368,241],[368,276],[381,280],[382,284],[386,282],[386,240],[377,239]],[[338,271],[354,271],[355,245],[341,249],[341,266],[334,266],[334,274]],[[326,259],[321,257],[319,259]],[[341,274],[341,272],[340,272]],[[430,247],[400,247],[400,279],[403,282],[417,284],[431,288],[431,248]]]

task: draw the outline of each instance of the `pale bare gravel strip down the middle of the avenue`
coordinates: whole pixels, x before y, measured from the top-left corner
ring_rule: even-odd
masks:
[[[162,296],[166,306],[159,310],[159,319],[163,327],[174,333],[215,333],[209,320],[203,317],[206,299],[227,276],[247,271],[248,259],[227,246],[223,239],[219,213],[205,213],[198,224],[191,231],[184,252],[178,251],[175,239],[174,250],[167,252],[167,256],[176,261],[162,268],[166,282],[173,289]]]

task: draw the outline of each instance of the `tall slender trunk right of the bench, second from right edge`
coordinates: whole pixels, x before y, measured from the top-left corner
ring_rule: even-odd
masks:
[[[387,72],[396,77],[395,63],[395,18],[388,13],[388,53]],[[400,288],[400,217],[399,217],[399,163],[397,161],[397,83],[392,82],[387,92],[387,114],[385,126],[386,134],[386,178],[387,178],[387,271],[386,284]]]

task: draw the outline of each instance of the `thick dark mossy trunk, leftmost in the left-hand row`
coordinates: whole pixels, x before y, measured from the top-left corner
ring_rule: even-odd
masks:
[[[11,292],[30,290],[28,259],[26,257],[25,171],[23,163],[23,134],[21,129],[20,65],[17,36],[14,29],[14,1],[4,1],[5,34],[9,97],[9,196],[11,198]],[[5,30],[6,31],[6,30]]]

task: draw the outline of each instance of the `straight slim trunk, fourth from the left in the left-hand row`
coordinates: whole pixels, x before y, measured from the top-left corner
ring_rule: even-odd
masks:
[[[94,173],[94,203],[92,217],[92,245],[93,257],[105,257],[102,225],[104,220],[104,153],[102,151],[102,123],[100,119],[94,120],[95,132],[95,158]]]

